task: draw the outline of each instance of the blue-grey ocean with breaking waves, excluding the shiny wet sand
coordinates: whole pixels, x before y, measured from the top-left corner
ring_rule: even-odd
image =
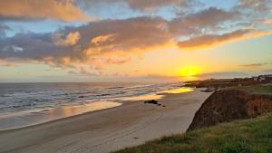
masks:
[[[90,104],[100,100],[125,100],[176,89],[181,85],[181,82],[0,83],[0,117],[30,110]]]

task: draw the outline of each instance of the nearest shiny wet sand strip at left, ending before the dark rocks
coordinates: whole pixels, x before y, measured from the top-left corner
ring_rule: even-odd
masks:
[[[107,106],[99,106],[103,104]],[[63,106],[61,108],[53,109],[23,111],[16,114],[4,115],[0,116],[0,132],[12,129],[28,128],[55,120],[64,120],[66,118],[91,113],[93,111],[112,109],[119,107],[122,104],[123,103],[121,102],[115,102],[113,100],[99,100],[88,104]]]

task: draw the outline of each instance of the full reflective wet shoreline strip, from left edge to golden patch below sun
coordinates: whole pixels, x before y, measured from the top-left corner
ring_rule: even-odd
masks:
[[[182,93],[193,91],[188,87],[173,90],[158,91],[154,93],[124,97],[113,100],[84,101],[83,104],[63,105],[59,108],[48,108],[42,110],[28,110],[0,116],[0,132],[11,129],[22,129],[35,125],[44,124],[54,120],[63,120],[73,116],[83,115],[98,110],[107,110],[119,107],[128,101],[160,100],[166,93]]]

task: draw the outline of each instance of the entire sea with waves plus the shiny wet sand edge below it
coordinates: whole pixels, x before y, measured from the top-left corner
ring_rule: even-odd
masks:
[[[16,129],[121,105],[157,100],[182,83],[12,83],[0,84],[0,130]],[[185,89],[186,91],[186,89]],[[187,89],[188,91],[188,89]],[[121,102],[116,102],[121,101]]]

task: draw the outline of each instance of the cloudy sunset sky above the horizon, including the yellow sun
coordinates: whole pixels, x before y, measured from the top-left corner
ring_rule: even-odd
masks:
[[[272,73],[272,0],[0,0],[0,82]]]

